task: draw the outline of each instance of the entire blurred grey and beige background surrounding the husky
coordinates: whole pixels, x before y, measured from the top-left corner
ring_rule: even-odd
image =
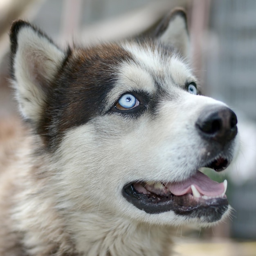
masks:
[[[34,23],[61,47],[91,45],[136,35],[174,7],[187,10],[191,65],[204,94],[225,101],[237,113],[241,141],[228,171],[205,170],[215,180],[228,180],[232,216],[211,229],[177,229],[175,250],[190,256],[256,256],[255,0],[0,0],[0,128],[8,123],[5,129],[18,129],[9,83],[13,20]]]

